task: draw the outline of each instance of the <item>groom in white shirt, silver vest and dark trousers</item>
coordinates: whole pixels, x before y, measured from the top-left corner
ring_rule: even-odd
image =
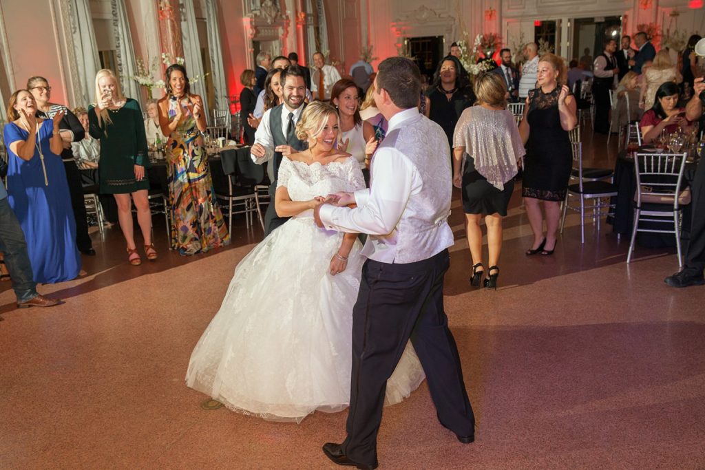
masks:
[[[474,440],[458,349],[443,311],[448,271],[450,153],[443,129],[417,109],[419,69],[407,58],[379,64],[374,101],[388,120],[372,161],[372,185],[318,206],[320,227],[371,235],[362,249],[360,293],[353,309],[350,409],[342,444],[323,446],[339,465],[374,469],[386,381],[411,338],[426,373],[441,425],[461,443]],[[348,204],[357,204],[348,209]]]

